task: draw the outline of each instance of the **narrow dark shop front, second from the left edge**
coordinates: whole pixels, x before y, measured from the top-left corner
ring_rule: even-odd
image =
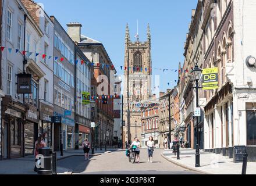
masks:
[[[34,144],[38,138],[39,112],[37,108],[29,105],[26,113],[26,124],[24,126],[24,149],[25,155],[34,154]]]

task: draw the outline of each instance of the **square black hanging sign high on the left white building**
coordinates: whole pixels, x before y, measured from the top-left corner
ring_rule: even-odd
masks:
[[[32,75],[31,74],[17,74],[17,94],[31,94],[32,93]]]

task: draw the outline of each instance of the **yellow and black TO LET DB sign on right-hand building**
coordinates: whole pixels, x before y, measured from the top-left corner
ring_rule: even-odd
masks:
[[[219,88],[218,67],[202,70],[202,90]]]

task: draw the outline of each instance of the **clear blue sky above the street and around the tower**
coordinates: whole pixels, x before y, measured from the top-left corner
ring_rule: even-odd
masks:
[[[37,1],[37,0],[35,0]],[[118,74],[123,74],[125,28],[129,24],[131,40],[135,40],[137,20],[140,41],[147,41],[147,23],[151,27],[153,75],[160,75],[160,90],[176,85],[178,72],[155,70],[178,69],[184,61],[184,42],[191,22],[191,10],[197,0],[38,0],[49,16],[66,24],[79,22],[81,33],[104,44]],[[172,83],[173,82],[173,83]],[[168,85],[170,83],[170,85]]]

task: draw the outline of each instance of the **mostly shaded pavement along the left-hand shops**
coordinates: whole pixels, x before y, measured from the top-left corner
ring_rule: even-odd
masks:
[[[95,151],[93,156],[103,155],[104,153],[110,153],[112,151],[116,151],[116,149],[107,149],[107,151]],[[57,174],[71,174],[70,169],[61,166],[59,162],[64,159],[68,159],[74,156],[80,156],[84,159],[83,150],[76,150],[76,151],[64,151],[63,156],[61,156],[60,152],[56,153],[57,155]],[[8,159],[8,160],[1,160],[0,161],[0,174],[37,174],[33,171],[35,165],[35,158],[33,155],[26,156],[24,158],[17,158],[17,159]]]

